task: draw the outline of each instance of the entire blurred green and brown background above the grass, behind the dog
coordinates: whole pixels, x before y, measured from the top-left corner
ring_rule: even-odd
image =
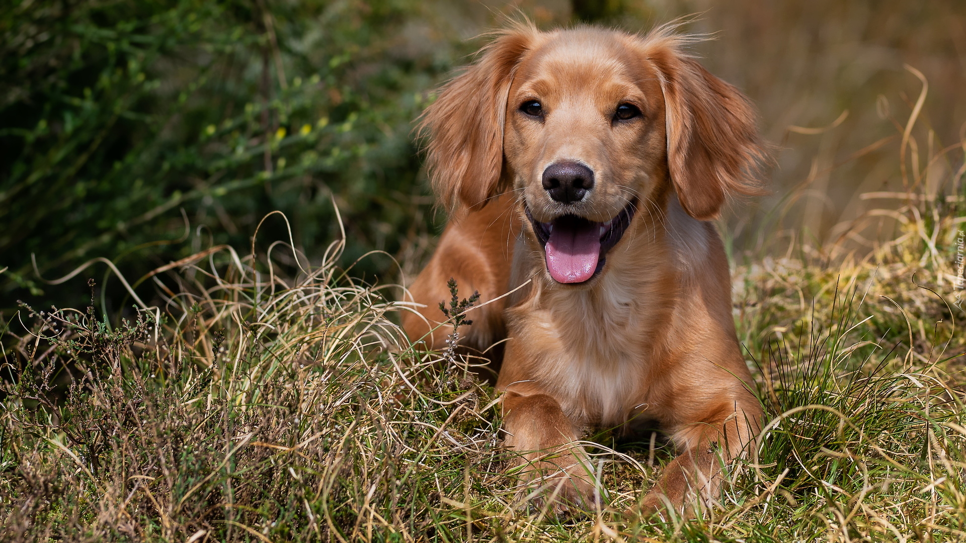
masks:
[[[157,300],[148,272],[218,243],[247,254],[276,210],[318,263],[340,236],[333,202],[348,242],[342,265],[383,251],[352,273],[404,281],[445,218],[432,206],[412,121],[485,43],[481,32],[521,13],[542,27],[591,21],[634,32],[696,15],[683,29],[714,38],[696,54],[753,99],[777,146],[773,195],[724,219],[736,248],[760,249],[755,225],[776,206],[770,239],[820,248],[872,204],[861,193],[903,189],[896,136],[922,90],[905,64],[928,81],[917,153],[962,140],[966,3],[956,0],[5,2],[4,322],[18,300],[86,305],[89,278],[114,318],[130,301],[105,264],[45,280],[104,257]],[[962,156],[953,150],[906,185],[958,191],[942,180],[961,183],[951,172]],[[256,252],[288,236],[272,215]],[[295,272],[291,250],[272,255],[281,272]]]

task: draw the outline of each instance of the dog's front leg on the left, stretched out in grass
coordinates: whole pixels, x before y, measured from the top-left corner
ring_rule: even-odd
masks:
[[[587,454],[576,443],[573,422],[552,396],[508,391],[503,414],[505,444],[520,454],[526,495],[538,503],[546,500],[557,513],[598,503]]]

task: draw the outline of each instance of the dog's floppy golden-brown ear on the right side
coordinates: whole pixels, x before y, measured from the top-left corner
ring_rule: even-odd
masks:
[[[668,171],[691,216],[717,216],[731,192],[763,194],[757,182],[766,151],[751,102],[685,56],[673,37],[648,52],[660,72],[668,131]]]

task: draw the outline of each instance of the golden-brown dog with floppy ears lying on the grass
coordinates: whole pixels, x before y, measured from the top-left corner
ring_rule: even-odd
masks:
[[[424,114],[434,188],[451,212],[412,284],[404,327],[440,349],[446,280],[492,300],[463,343],[506,342],[506,444],[563,506],[594,495],[576,443],[590,427],[657,422],[680,451],[643,500],[681,509],[719,493],[761,410],[735,337],[712,223],[759,191],[748,100],[665,26],[497,33]]]

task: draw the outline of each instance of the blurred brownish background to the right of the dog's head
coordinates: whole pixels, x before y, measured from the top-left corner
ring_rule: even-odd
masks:
[[[902,178],[894,158],[923,92],[907,166],[917,159],[924,164],[936,150],[949,147],[930,163],[926,192],[959,190],[932,182],[958,183],[950,174],[964,156],[966,2],[680,0],[666,5],[671,16],[701,14],[689,30],[714,34],[714,40],[696,46],[701,62],[757,105],[762,132],[778,147],[774,194],[762,199],[762,208],[785,206],[790,192],[800,193],[784,213],[786,239],[835,243],[851,220],[874,208],[897,207],[862,194],[904,191],[915,183]],[[923,74],[926,87],[906,65]],[[751,215],[747,208],[737,209],[744,216],[730,221],[732,231]]]

